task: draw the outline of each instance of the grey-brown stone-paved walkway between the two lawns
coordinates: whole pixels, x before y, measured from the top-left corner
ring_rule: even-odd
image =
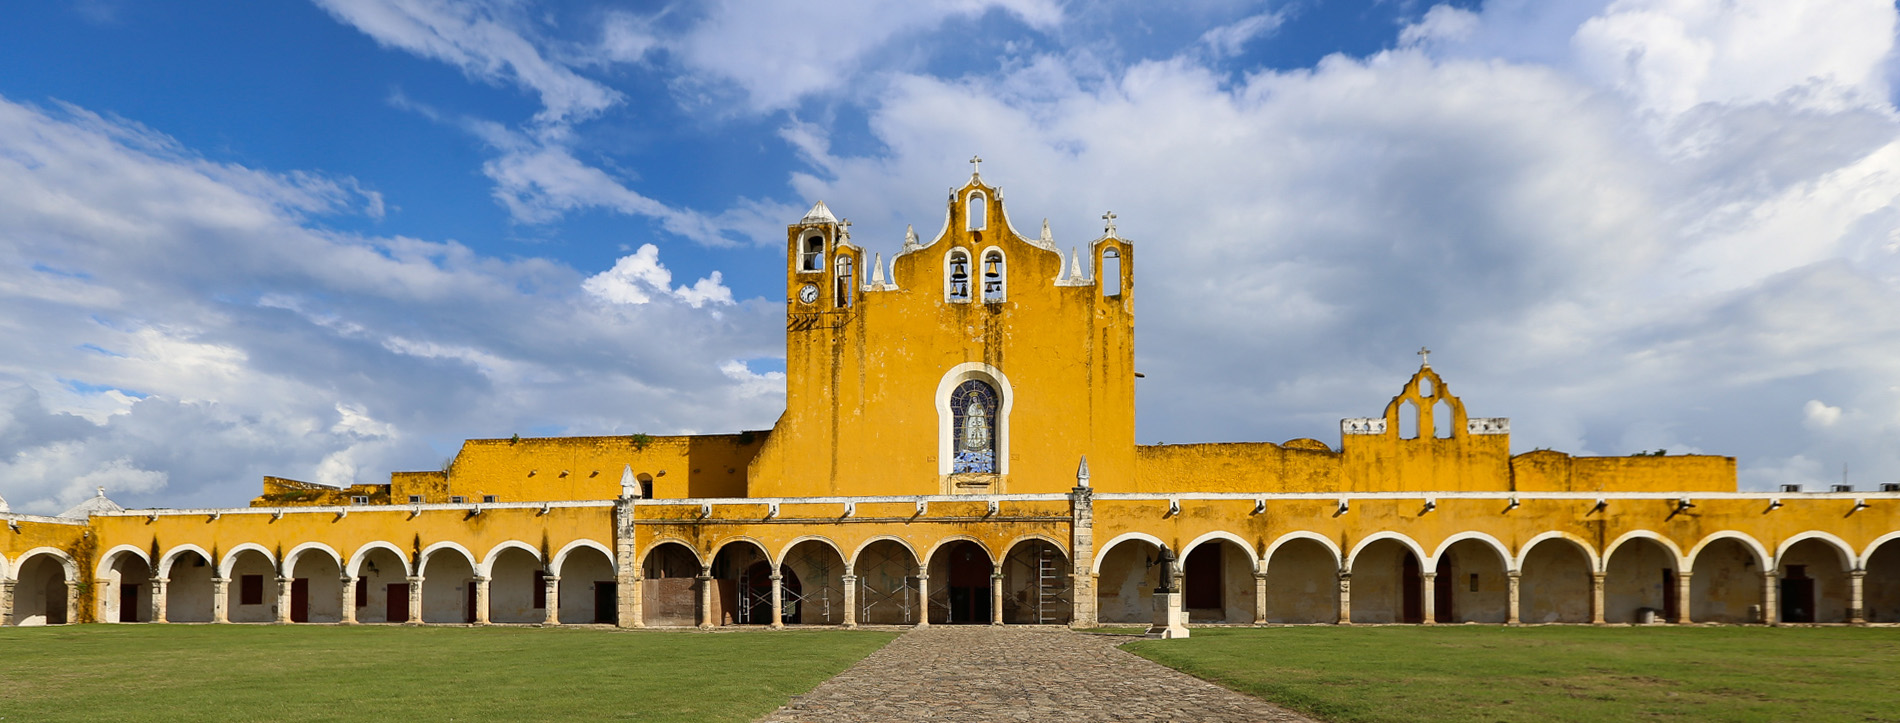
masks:
[[[916,628],[792,698],[790,721],[1302,721],[1066,628]]]

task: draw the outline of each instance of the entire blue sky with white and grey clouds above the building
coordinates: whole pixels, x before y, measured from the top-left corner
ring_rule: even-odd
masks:
[[[238,505],[783,408],[783,228],[971,154],[1138,243],[1140,440],[1900,478],[1885,2],[46,2],[0,11],[0,495]]]

